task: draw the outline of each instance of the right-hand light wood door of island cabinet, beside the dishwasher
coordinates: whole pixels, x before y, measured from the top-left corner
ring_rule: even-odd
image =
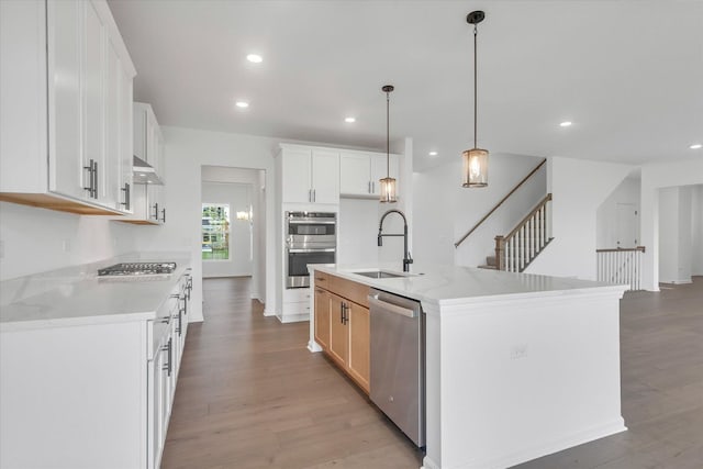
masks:
[[[370,322],[368,308],[356,303],[349,305],[349,356],[347,367],[349,375],[369,392],[369,378],[371,373],[370,362]]]

